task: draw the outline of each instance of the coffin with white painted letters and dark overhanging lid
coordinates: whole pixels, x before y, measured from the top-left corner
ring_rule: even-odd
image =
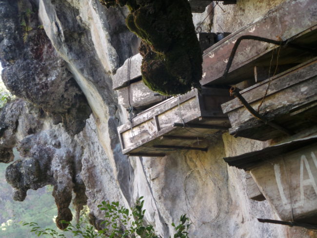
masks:
[[[224,159],[250,170],[282,220],[317,223],[317,136]]]

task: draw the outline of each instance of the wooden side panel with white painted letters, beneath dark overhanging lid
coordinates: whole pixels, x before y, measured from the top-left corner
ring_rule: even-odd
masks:
[[[317,223],[317,144],[251,169],[264,197],[282,220]]]

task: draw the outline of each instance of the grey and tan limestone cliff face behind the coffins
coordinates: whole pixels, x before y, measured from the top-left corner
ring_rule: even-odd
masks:
[[[281,1],[238,0],[222,6],[225,13],[215,7],[202,28],[210,30],[213,20],[213,29],[235,31]],[[211,9],[194,14],[195,24]],[[126,16],[125,8],[106,9],[99,0],[0,0],[2,79],[20,98],[0,111],[0,161],[11,162],[6,178],[14,199],[52,184],[57,220],[70,219],[74,191],[77,209],[88,204],[98,227],[101,201],[133,206],[144,196],[146,219],[164,238],[182,214],[193,221],[191,237],[314,237],[305,229],[258,223],[277,215],[266,201],[248,198],[244,172],[222,159],[265,142],[224,134],[209,141],[207,153],[122,155],[117,126],[127,122],[127,112],[112,77],[139,44]],[[12,162],[14,147],[23,159]]]

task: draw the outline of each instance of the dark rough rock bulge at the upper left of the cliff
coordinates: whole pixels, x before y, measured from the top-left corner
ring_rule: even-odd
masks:
[[[17,97],[55,118],[60,116],[70,135],[78,134],[91,109],[66,62],[46,36],[37,7],[26,0],[2,3],[1,8],[11,13],[0,11],[3,82]]]

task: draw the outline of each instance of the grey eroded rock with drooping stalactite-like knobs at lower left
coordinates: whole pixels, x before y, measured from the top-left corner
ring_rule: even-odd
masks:
[[[80,177],[81,158],[77,154],[81,148],[61,126],[45,128],[44,123],[50,123],[49,128],[54,127],[54,119],[22,99],[7,104],[0,115],[3,119],[0,150],[7,153],[1,156],[1,161],[11,162],[15,147],[23,158],[6,169],[6,180],[14,188],[13,199],[23,201],[27,190],[53,185],[58,207],[57,225],[65,228],[59,221],[72,220],[69,209],[72,192],[76,194],[73,203],[78,211],[87,200]]]

